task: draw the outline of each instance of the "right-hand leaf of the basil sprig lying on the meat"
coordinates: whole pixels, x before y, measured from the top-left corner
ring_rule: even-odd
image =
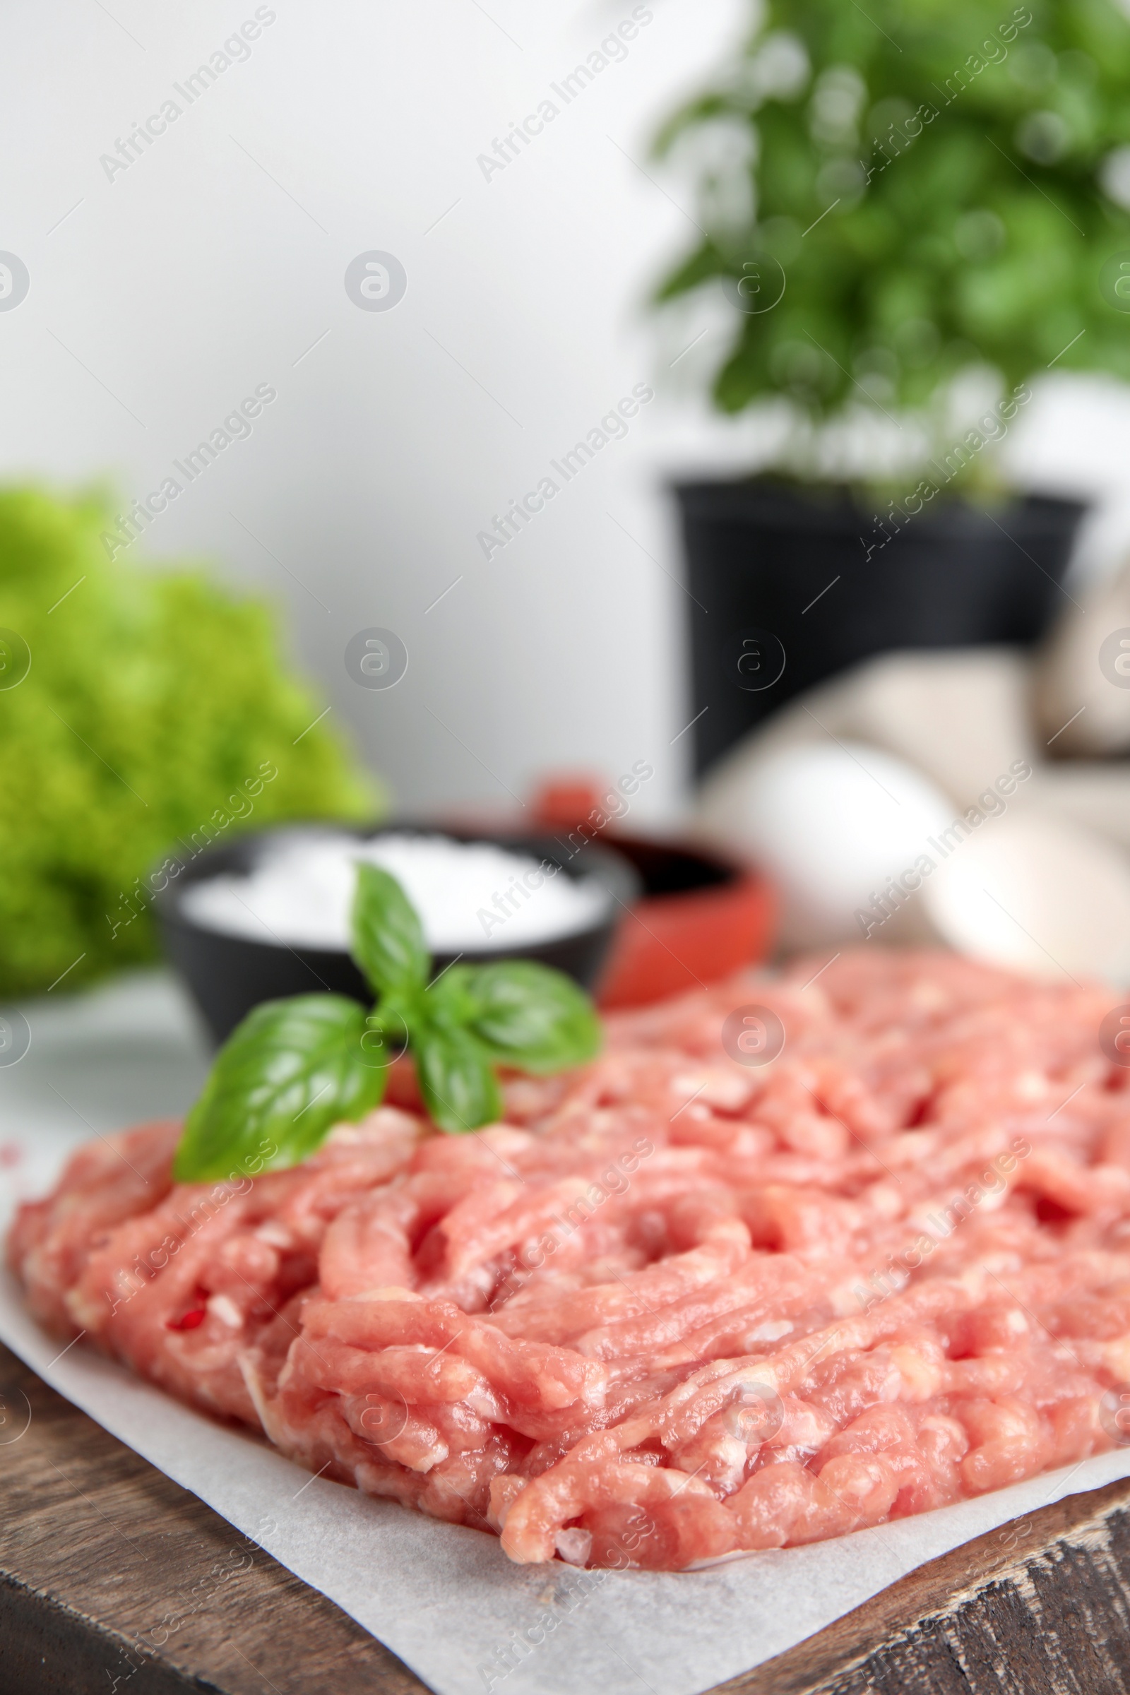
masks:
[[[596,1009],[571,976],[535,959],[473,970],[478,1007],[468,1020],[488,1053],[520,1071],[562,1071],[600,1053]]]

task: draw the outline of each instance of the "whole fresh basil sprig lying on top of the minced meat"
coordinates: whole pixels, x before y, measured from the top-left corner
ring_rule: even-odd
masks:
[[[432,1120],[451,1134],[495,1124],[495,1066],[562,1071],[600,1049],[600,1020],[578,985],[534,959],[452,964],[429,983],[420,919],[395,876],[357,866],[352,956],[376,990],[368,1014],[344,995],[268,1000],[229,1036],[185,1120],[178,1183],[298,1164],[330,1127],[385,1095],[405,1048]]]

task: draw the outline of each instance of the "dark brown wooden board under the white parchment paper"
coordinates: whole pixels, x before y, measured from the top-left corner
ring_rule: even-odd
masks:
[[[249,1553],[230,1524],[3,1348],[0,1500],[0,1695],[425,1690],[332,1602],[259,1548]],[[1130,1480],[933,1559],[722,1688],[1130,1692]]]

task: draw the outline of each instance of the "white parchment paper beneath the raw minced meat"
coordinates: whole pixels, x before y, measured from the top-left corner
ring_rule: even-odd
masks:
[[[78,1141],[181,1110],[203,1070],[191,1017],[159,978],[24,1010],[32,1049],[19,1068],[0,1068],[0,1229],[19,1198],[46,1188]],[[1130,1449],[1118,1449],[917,1519],[705,1571],[513,1566],[493,1537],[310,1478],[81,1342],[59,1353],[7,1275],[0,1339],[329,1595],[437,1695],[698,1695],[793,1648],[923,1561],[1062,1495],[1130,1475]]]

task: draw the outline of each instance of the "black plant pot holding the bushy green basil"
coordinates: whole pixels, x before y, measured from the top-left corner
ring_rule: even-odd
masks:
[[[991,508],[939,495],[879,524],[842,488],[771,478],[676,495],[698,775],[786,700],[871,654],[1039,641],[1069,603],[1061,578],[1084,512],[1039,495]]]

